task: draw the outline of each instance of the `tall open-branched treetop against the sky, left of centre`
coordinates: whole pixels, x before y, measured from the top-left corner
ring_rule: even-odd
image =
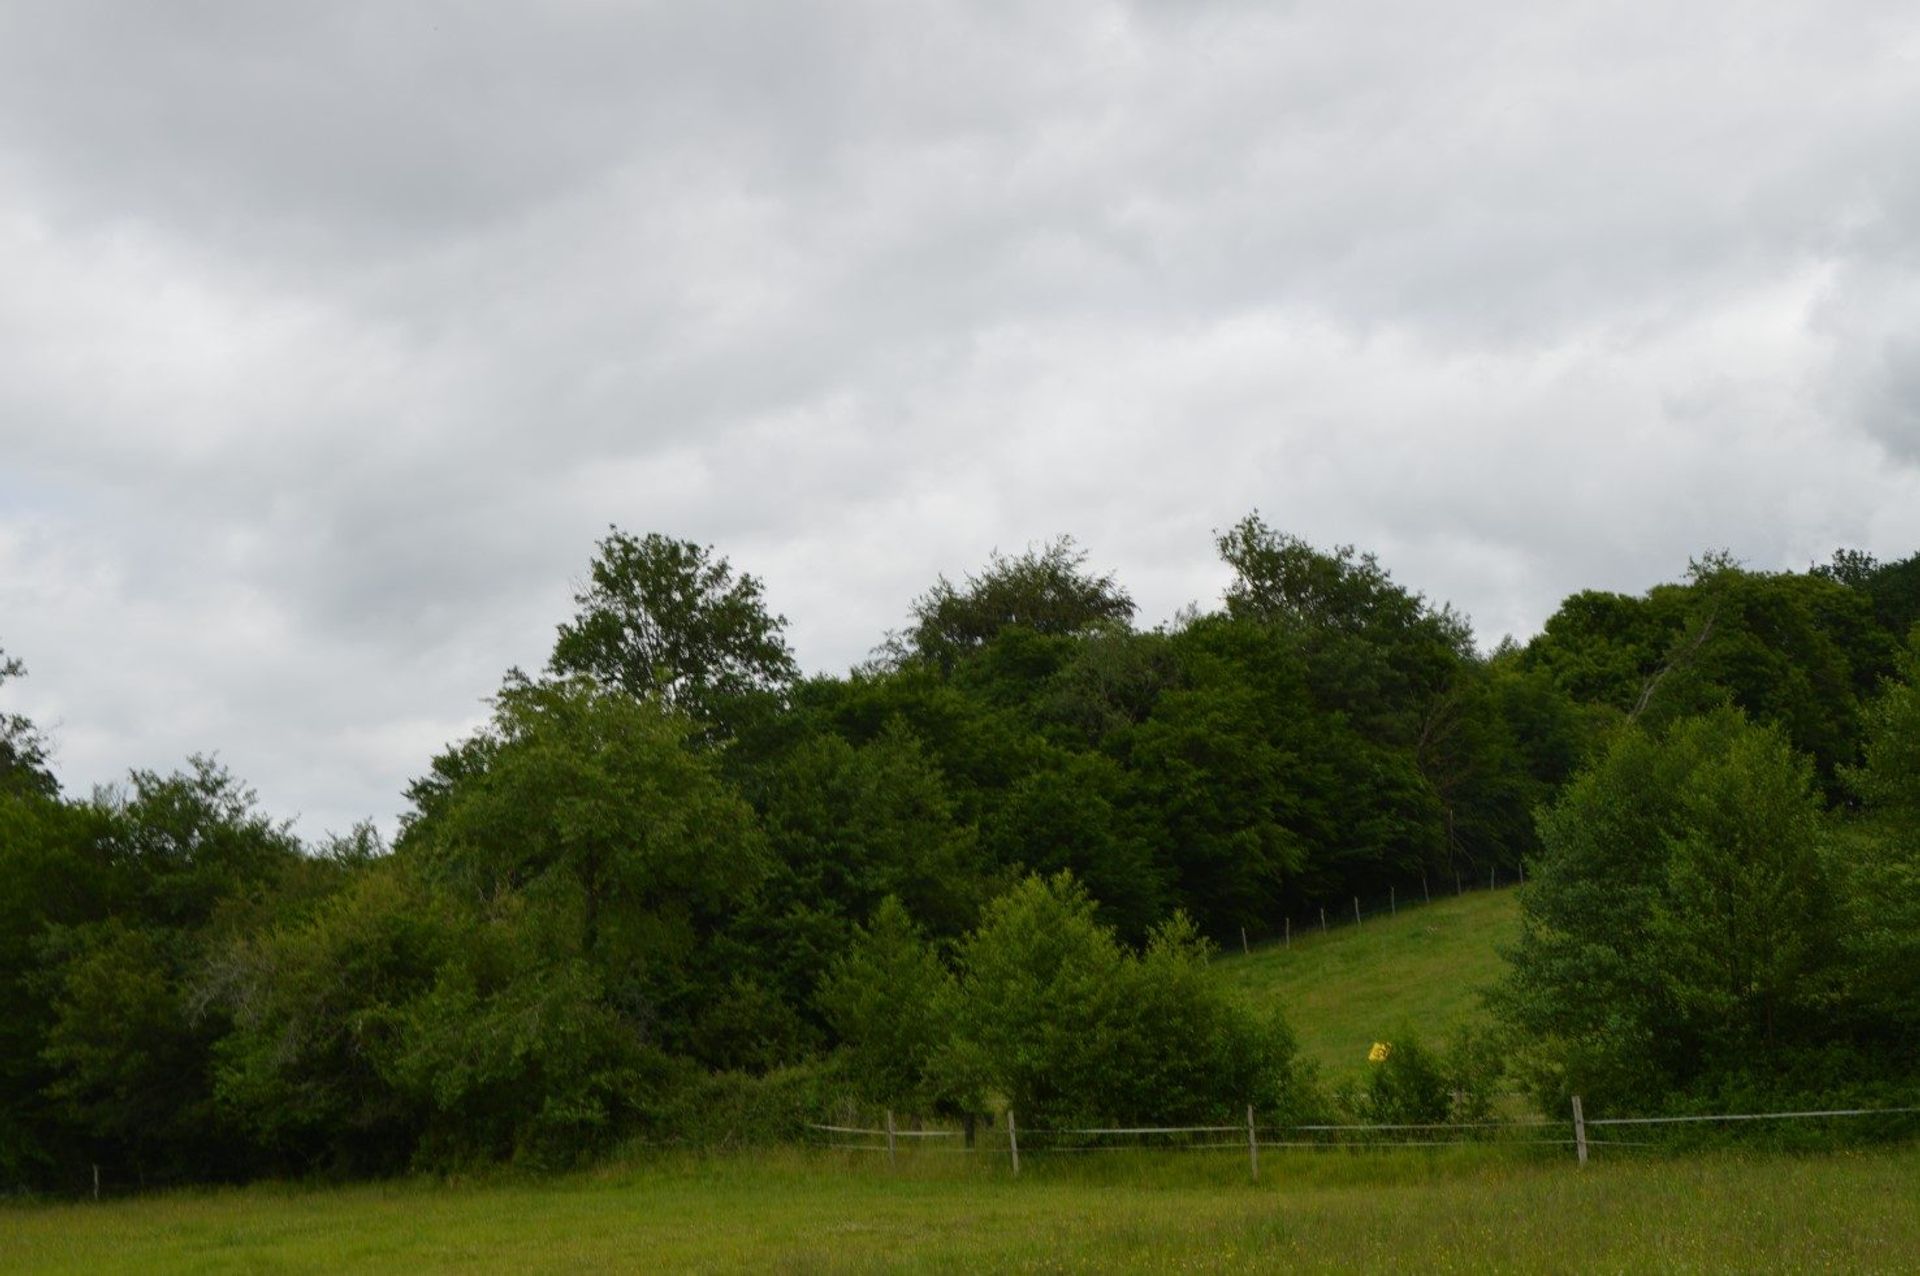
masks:
[[[724,725],[739,700],[785,691],[799,677],[783,637],[787,620],[768,614],[762,593],[756,578],[735,578],[712,547],[611,528],[588,585],[574,593],[580,610],[561,626],[549,668],[657,695]]]

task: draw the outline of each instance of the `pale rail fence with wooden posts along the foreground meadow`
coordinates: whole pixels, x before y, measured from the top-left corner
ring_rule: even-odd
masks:
[[[1555,1117],[1515,1117],[1507,1121],[1463,1121],[1463,1122],[1404,1122],[1404,1124],[1281,1124],[1263,1126],[1256,1121],[1254,1109],[1246,1109],[1244,1124],[1167,1124],[1167,1126],[1039,1126],[1021,1130],[1014,1113],[1006,1113],[1004,1153],[1014,1174],[1020,1174],[1020,1157],[1033,1155],[1085,1155],[1100,1151],[1235,1151],[1244,1153],[1254,1180],[1260,1178],[1261,1149],[1369,1149],[1369,1147],[1569,1147],[1576,1165],[1586,1165],[1594,1147],[1659,1147],[1653,1140],[1601,1138],[1594,1130],[1613,1130],[1622,1126],[1699,1126],[1709,1122],[1743,1121],[1857,1121],[1864,1117],[1912,1117],[1920,1107],[1841,1107],[1793,1113],[1705,1113],[1682,1117],[1588,1117],[1582,1111],[1580,1096],[1572,1099],[1572,1111],[1565,1119]],[[1914,1122],[1903,1122],[1907,1126]],[[893,1113],[887,1113],[883,1128],[851,1124],[810,1124],[810,1130],[829,1136],[822,1146],[837,1151],[876,1151],[887,1153],[887,1163],[897,1165],[900,1140],[952,1140],[956,1130],[900,1130]],[[837,1136],[858,1136],[877,1142],[849,1144]],[[1127,1140],[1127,1142],[1117,1142]],[[922,1146],[929,1151],[981,1153],[1000,1147],[968,1146]]]

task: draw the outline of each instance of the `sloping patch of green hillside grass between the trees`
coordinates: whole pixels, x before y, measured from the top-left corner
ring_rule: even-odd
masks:
[[[1405,1025],[1440,1044],[1478,1021],[1478,990],[1501,971],[1496,944],[1515,936],[1519,917],[1515,890],[1478,890],[1327,934],[1296,929],[1292,948],[1223,956],[1215,973],[1254,1004],[1277,1004],[1300,1053],[1338,1084],[1361,1076],[1367,1048]]]

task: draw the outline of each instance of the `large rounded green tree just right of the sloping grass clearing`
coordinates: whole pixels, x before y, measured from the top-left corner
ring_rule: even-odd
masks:
[[[1542,817],[1500,1007],[1536,1096],[1647,1103],[1830,1030],[1809,766],[1734,710],[1626,731]]]

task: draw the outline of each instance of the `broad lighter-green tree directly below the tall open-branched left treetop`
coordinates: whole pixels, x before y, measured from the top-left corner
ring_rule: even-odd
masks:
[[[482,743],[405,823],[397,856],[463,908],[538,913],[645,1040],[689,1048],[728,984],[707,944],[766,875],[753,808],[685,748],[691,723],[591,679],[513,677]],[[578,990],[572,977],[553,984]]]

